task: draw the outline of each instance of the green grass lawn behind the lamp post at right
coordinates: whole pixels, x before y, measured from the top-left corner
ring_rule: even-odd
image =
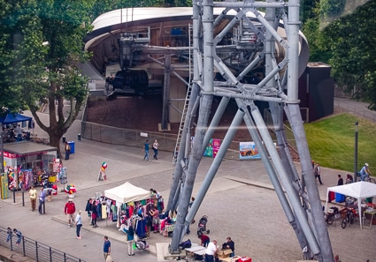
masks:
[[[311,159],[322,167],[353,173],[356,121],[357,170],[367,162],[372,175],[376,175],[376,124],[347,113],[304,124]]]

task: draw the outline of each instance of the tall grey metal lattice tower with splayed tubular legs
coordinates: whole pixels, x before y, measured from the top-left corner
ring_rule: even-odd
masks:
[[[224,8],[224,11],[214,18],[213,8],[216,7]],[[265,9],[265,15],[257,10],[260,8]],[[178,245],[186,228],[195,217],[235,132],[244,120],[261,155],[280,205],[295,231],[303,252],[303,259],[317,258],[318,261],[333,261],[333,251],[313,176],[311,155],[299,110],[299,1],[212,2],[203,0],[195,2],[193,9],[194,80],[167,206],[169,210],[179,206],[170,252],[178,251]],[[223,19],[228,19],[226,15],[230,12],[232,19],[219,34],[214,35],[216,26]],[[253,21],[249,19],[249,13],[252,14]],[[277,33],[280,19],[283,20],[285,26],[286,38],[282,38]],[[225,50],[230,54],[226,56],[219,50],[219,42],[227,33],[234,30],[234,26],[240,24],[242,24],[241,27],[236,27],[236,37],[234,37],[232,48]],[[284,56],[280,59],[276,56],[277,53],[283,53]],[[234,64],[231,62],[234,60],[237,62],[237,70],[234,70]],[[242,81],[247,73],[260,63],[265,64],[265,77],[258,83]],[[224,80],[214,79],[214,71],[218,71]],[[209,113],[214,95],[222,97],[222,100],[209,124]],[[205,145],[211,139],[230,100],[236,101],[238,111],[188,213],[189,198],[192,195],[196,171],[203,157]],[[277,152],[272,143],[272,138],[255,101],[265,101],[269,104],[280,152]],[[190,131],[198,105],[195,143],[191,149],[188,138],[192,135]],[[302,164],[301,175],[295,169],[288,151],[288,142],[283,129],[283,113],[288,117],[295,135]],[[187,142],[183,143],[184,141]],[[286,195],[282,188],[286,190]]]

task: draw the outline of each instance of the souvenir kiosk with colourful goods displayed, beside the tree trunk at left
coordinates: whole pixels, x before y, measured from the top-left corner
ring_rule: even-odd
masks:
[[[4,144],[4,171],[8,188],[27,190],[32,185],[42,185],[43,179],[54,182],[53,163],[58,148],[28,141]]]

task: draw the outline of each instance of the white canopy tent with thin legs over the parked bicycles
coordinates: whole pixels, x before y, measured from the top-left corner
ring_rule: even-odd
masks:
[[[376,196],[376,184],[375,183],[369,183],[360,181],[357,183],[348,183],[338,186],[332,186],[327,188],[326,192],[326,204],[325,204],[325,212],[327,209],[327,196],[329,195],[329,191],[333,191],[335,193],[339,193],[351,198],[357,198],[357,205],[359,212],[361,209],[361,203],[363,198],[372,198]],[[359,213],[360,218],[362,217],[362,214]],[[360,228],[362,228],[362,220],[360,221]]]

